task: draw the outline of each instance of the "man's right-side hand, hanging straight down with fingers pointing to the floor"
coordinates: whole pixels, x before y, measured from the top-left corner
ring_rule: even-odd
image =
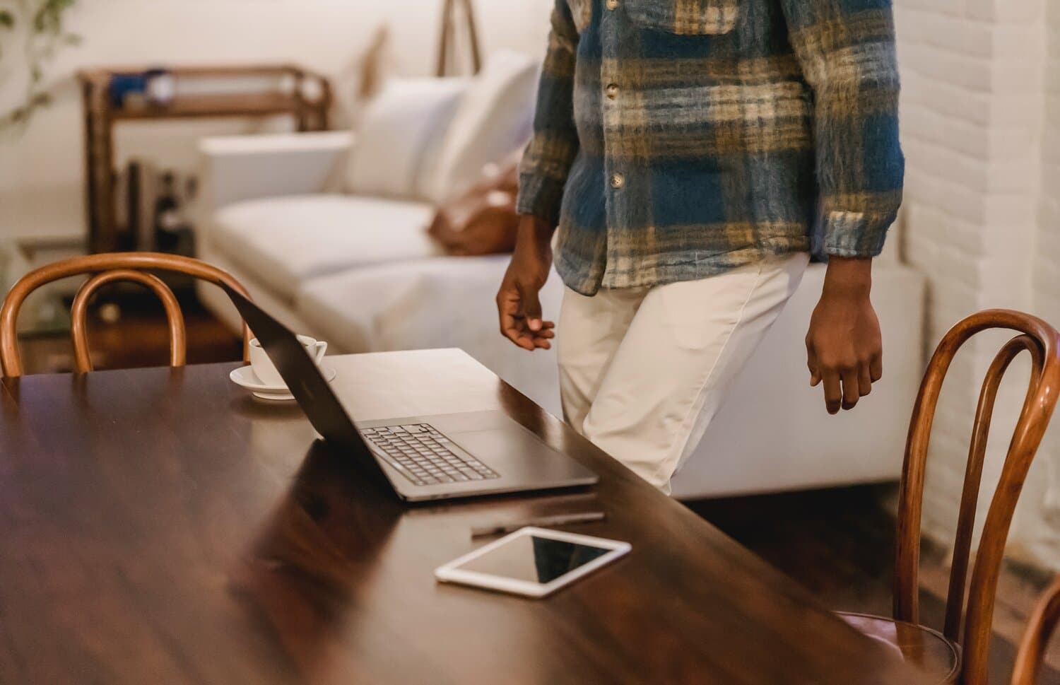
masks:
[[[824,382],[829,414],[837,414],[841,406],[852,409],[883,375],[883,339],[869,301],[871,284],[871,260],[829,260],[806,336],[810,385]]]

